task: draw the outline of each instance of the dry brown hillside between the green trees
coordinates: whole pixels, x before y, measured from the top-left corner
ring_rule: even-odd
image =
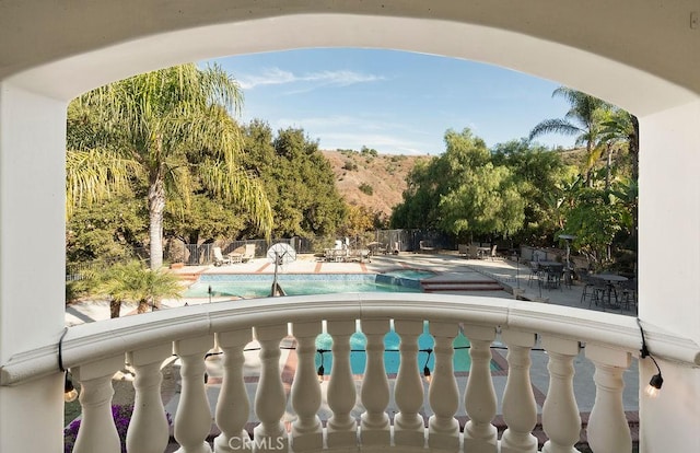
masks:
[[[323,154],[330,162],[338,190],[349,204],[364,206],[386,217],[401,201],[406,176],[416,162],[430,159],[399,154],[375,156],[357,151],[323,151]]]

